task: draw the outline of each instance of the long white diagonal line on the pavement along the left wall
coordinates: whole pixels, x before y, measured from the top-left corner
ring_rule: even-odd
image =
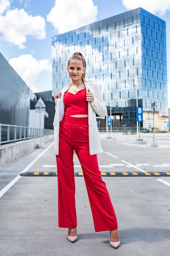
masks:
[[[24,170],[22,170],[21,173],[25,173],[26,171],[28,171],[29,168],[31,168],[31,166],[32,166],[35,162],[37,162],[37,160],[38,160],[53,144],[54,144],[54,142],[53,142],[50,146],[48,146],[48,148],[46,148],[44,151],[42,151],[42,152],[40,153],[40,155],[38,155],[38,157],[36,157],[28,166],[26,166],[26,168],[24,168]],[[21,173],[20,173],[20,174],[21,174]],[[2,195],[4,195],[4,193],[6,193],[6,192],[11,188],[11,186],[13,186],[18,180],[20,180],[20,178],[22,177],[22,176],[20,176],[20,174],[17,175],[11,182],[9,182],[9,184],[7,184],[7,186],[5,186],[5,187],[0,191],[0,198],[2,197]]]

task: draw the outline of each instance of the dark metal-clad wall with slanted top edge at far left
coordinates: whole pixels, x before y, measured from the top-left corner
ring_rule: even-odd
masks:
[[[30,101],[35,94],[0,54],[0,123],[29,125]]]

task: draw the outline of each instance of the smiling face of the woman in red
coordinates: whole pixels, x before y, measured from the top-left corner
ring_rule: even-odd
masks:
[[[82,82],[82,74],[85,72],[85,67],[81,60],[71,59],[67,67],[68,74],[72,81]]]

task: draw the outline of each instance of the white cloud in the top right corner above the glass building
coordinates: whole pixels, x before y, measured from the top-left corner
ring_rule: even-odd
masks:
[[[159,13],[160,15],[170,11],[170,0],[122,0],[122,4],[128,10],[141,7],[146,11],[154,14]]]

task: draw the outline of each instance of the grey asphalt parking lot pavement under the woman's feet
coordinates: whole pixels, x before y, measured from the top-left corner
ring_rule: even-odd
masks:
[[[95,232],[81,175],[75,177],[78,240],[67,239],[58,227],[57,177],[21,176],[26,172],[56,172],[53,141],[0,167],[0,256],[168,256],[170,253],[170,134],[137,136],[101,134],[101,172],[155,172],[140,177],[102,175],[117,215],[121,245],[109,245],[109,231]],[[81,173],[77,156],[75,172]]]

